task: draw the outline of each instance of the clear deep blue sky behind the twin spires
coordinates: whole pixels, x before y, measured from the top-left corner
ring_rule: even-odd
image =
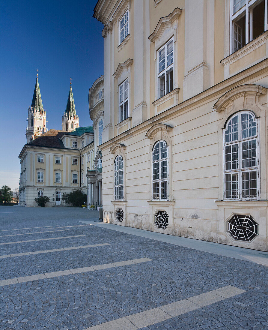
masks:
[[[0,6],[0,187],[18,187],[19,152],[38,68],[48,129],[61,129],[70,77],[80,126],[90,126],[88,91],[104,74],[97,0],[17,1]]]

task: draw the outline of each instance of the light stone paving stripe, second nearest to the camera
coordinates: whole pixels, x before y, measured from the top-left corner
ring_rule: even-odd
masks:
[[[134,260],[126,260],[126,262],[128,262],[128,261],[133,261],[134,264],[138,264],[141,262],[153,261],[153,260],[149,259],[149,258],[140,258],[140,259],[134,259]],[[58,277],[58,276],[63,276],[63,275],[73,275],[73,274],[84,273],[84,272],[92,272],[95,270],[106,269],[106,268],[111,268],[111,267],[119,267],[119,266],[117,266],[114,263],[110,263],[110,264],[104,264],[104,265],[94,265],[91,267],[82,267],[82,268],[61,270],[58,272],[41,273],[41,274],[35,274],[35,275],[30,275],[30,276],[15,277],[14,279],[6,279],[6,280],[0,281],[0,286],[15,284],[15,283],[22,283],[22,282],[31,282],[34,280],[41,280],[41,279],[50,279],[53,277]]]

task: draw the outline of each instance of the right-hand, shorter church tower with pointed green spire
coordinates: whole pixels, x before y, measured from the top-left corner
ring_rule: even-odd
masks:
[[[70,82],[70,91],[68,95],[65,113],[62,116],[62,130],[64,132],[71,132],[74,128],[79,127],[78,115],[75,112],[74,96],[72,90],[72,79]]]

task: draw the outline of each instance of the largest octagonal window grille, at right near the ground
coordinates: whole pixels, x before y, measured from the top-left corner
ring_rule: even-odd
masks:
[[[227,221],[227,232],[236,241],[251,242],[258,235],[258,224],[251,215],[234,214]]]

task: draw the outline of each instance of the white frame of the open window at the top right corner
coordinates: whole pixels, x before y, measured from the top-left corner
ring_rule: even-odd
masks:
[[[246,45],[253,40],[252,36],[252,10],[253,8],[259,4],[260,0],[245,0],[245,5],[243,5],[239,10],[237,10],[235,13],[233,13],[233,4],[234,0],[230,0],[230,54],[235,52],[234,50],[234,20],[239,18],[240,16],[243,17],[244,13],[246,14]],[[264,31],[267,30],[267,7],[268,7],[268,0],[264,1]]]

